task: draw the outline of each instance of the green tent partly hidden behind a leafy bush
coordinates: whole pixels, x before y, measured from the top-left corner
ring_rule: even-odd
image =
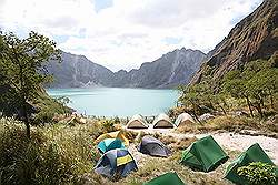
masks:
[[[247,151],[241,153],[237,160],[231,162],[227,167],[225,178],[234,182],[235,184],[248,184],[246,179],[237,174],[238,167],[247,166],[252,162],[262,162],[270,165],[275,165],[274,162],[268,157],[258,143],[251,145]]]

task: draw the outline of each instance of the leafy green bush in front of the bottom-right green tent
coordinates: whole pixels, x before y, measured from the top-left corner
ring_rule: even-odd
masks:
[[[274,166],[261,162],[239,167],[238,174],[245,177],[251,185],[271,185],[276,182]]]

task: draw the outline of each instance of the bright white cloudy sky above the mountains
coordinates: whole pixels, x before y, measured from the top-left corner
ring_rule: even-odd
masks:
[[[262,0],[0,0],[0,30],[30,31],[112,71],[175,49],[212,50]]]

